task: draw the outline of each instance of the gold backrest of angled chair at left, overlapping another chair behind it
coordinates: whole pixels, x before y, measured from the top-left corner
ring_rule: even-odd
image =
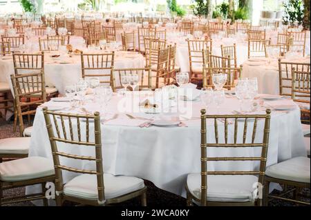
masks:
[[[15,108],[19,117],[19,134],[23,137],[23,115],[35,114],[36,109],[30,106],[39,106],[46,102],[46,86],[44,72],[11,75],[15,97]],[[32,99],[34,98],[34,99]]]

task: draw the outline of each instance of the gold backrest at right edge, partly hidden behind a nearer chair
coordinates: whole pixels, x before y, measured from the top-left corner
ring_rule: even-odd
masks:
[[[279,59],[280,95],[292,97],[292,70],[310,72],[310,63],[285,62]]]

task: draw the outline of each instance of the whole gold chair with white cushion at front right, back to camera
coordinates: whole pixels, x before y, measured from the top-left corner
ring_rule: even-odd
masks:
[[[256,185],[259,190],[262,190],[265,181],[270,114],[271,110],[267,110],[266,114],[254,115],[208,115],[206,110],[201,110],[201,172],[189,174],[187,177],[188,206],[193,206],[194,201],[200,203],[201,206],[263,205],[263,199],[256,197],[254,192],[258,190]],[[207,120],[214,121],[214,128],[208,130]],[[242,126],[244,126],[243,132],[238,132],[238,127]],[[231,129],[234,130],[234,134],[229,132]],[[249,136],[251,134],[252,136],[248,139],[247,132],[249,130],[252,132]],[[214,132],[214,135],[209,135],[210,132]],[[238,141],[238,139],[243,141]],[[215,150],[216,155],[224,154],[221,151],[224,148],[232,148],[234,152],[242,148],[249,148],[253,153],[240,154],[239,157],[211,157],[209,155],[208,150]],[[209,171],[207,166],[211,162],[218,161],[240,164],[256,162],[258,168],[253,168],[250,171]]]

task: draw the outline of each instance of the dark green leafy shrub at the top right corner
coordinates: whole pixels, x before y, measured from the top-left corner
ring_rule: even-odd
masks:
[[[293,25],[298,22],[299,25],[303,22],[303,3],[301,0],[289,0],[283,3],[285,15],[283,16],[284,24]]]

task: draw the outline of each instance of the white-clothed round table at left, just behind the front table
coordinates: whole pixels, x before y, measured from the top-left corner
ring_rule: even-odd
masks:
[[[51,57],[51,54],[53,53],[46,53],[44,57],[46,86],[55,86],[60,94],[64,94],[66,86],[73,85],[82,78],[81,57],[80,55],[69,57],[68,54],[64,54],[55,60]],[[143,67],[144,57],[142,57],[142,54],[122,51],[115,52],[114,68]],[[14,74],[12,59],[0,58],[0,82],[10,82],[10,74]],[[117,86],[120,85],[120,79],[116,78],[116,84]]]

